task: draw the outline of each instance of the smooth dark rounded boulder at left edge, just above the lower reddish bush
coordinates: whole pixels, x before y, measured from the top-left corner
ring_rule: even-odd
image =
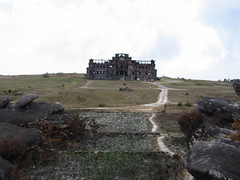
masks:
[[[40,145],[42,134],[36,129],[22,128],[6,122],[0,122],[0,147],[4,140],[15,141],[16,143],[32,147]]]

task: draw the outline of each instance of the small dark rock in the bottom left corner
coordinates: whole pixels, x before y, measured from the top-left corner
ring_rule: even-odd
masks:
[[[16,167],[0,157],[0,180],[6,180],[9,178],[12,171],[16,170]]]

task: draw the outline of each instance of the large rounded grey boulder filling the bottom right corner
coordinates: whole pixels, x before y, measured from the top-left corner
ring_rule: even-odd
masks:
[[[198,142],[187,153],[187,169],[198,180],[240,179],[240,143]]]

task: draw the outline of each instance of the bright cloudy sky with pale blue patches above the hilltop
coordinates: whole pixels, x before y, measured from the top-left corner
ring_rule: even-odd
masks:
[[[158,76],[240,78],[240,0],[0,0],[0,74],[154,59]]]

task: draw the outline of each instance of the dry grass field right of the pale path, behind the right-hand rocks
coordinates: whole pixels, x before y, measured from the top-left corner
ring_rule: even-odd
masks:
[[[239,100],[230,82],[163,79],[161,83],[180,89],[168,91],[168,100],[175,102],[176,106],[178,103],[194,105],[203,96]]]

